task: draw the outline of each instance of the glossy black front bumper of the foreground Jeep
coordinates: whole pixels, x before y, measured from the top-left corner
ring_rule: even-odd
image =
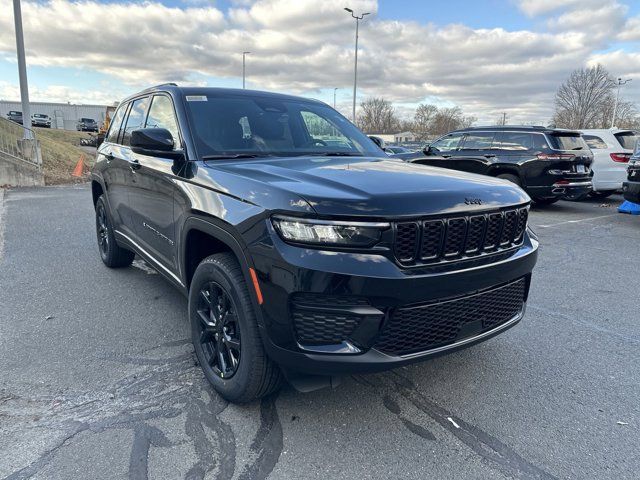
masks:
[[[447,271],[433,271],[402,269],[383,255],[327,252],[293,247],[277,237],[272,240],[271,248],[265,244],[250,246],[265,298],[260,308],[263,342],[270,357],[287,370],[315,375],[386,370],[473,345],[512,327],[524,314],[538,246],[526,235],[522,246],[494,263],[466,267],[461,264]],[[390,344],[388,327],[396,322],[398,312],[465,302],[519,280],[520,307],[490,328],[478,323],[485,325],[480,313],[477,318],[475,313],[467,313],[469,321],[455,338],[430,344],[426,349],[419,344],[395,349]],[[297,300],[300,295],[326,296],[326,300],[315,308],[309,304],[301,307]],[[308,318],[320,318],[323,325],[340,322],[344,326],[354,317],[360,320],[351,333],[344,330],[344,338],[338,336],[332,342],[324,338],[326,331],[316,330],[322,341],[313,342],[294,320],[299,308],[307,308],[311,312]],[[470,312],[472,307],[465,308]],[[436,314],[434,321],[442,314]],[[416,324],[416,333],[423,326]],[[411,328],[403,332],[405,343]]]

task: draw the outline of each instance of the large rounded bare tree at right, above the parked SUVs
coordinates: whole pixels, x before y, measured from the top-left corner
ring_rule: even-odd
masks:
[[[574,70],[556,93],[553,122],[564,128],[604,128],[603,112],[615,101],[614,85],[602,65]]]

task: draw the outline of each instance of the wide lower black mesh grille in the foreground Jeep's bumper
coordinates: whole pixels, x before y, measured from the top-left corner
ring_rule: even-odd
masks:
[[[407,355],[450,345],[491,330],[522,312],[526,279],[466,297],[401,307],[383,327],[374,348]]]

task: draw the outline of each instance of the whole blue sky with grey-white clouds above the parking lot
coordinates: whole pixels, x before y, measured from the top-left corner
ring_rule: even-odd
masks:
[[[13,12],[0,0],[0,98],[18,99]],[[460,106],[482,122],[549,120],[571,70],[634,78],[639,0],[22,0],[31,99],[111,103],[165,81],[301,94],[350,112],[355,21],[359,99],[410,112]]]

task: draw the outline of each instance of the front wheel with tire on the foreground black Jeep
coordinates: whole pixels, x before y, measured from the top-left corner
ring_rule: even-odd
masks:
[[[189,319],[198,362],[223,398],[246,403],[280,388],[282,372],[264,351],[249,290],[232,254],[211,255],[198,265],[189,289]]]

